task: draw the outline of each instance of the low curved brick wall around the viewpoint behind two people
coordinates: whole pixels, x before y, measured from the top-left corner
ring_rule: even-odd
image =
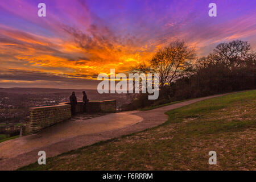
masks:
[[[116,110],[116,101],[89,101],[86,104],[88,113],[114,113]],[[77,102],[76,113],[82,113],[82,102]],[[26,122],[26,128],[23,134],[33,134],[38,131],[63,122],[71,118],[71,105],[69,102],[63,102],[56,106],[32,107],[30,108],[30,119]]]

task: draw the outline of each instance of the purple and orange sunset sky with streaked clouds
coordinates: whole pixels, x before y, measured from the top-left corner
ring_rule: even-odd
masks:
[[[99,73],[125,72],[176,39],[197,57],[236,39],[255,49],[256,1],[0,1],[0,87],[93,89]]]

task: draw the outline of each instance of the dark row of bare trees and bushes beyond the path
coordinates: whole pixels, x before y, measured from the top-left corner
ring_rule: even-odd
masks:
[[[199,59],[195,49],[184,41],[172,41],[148,63],[131,68],[131,72],[159,74],[158,100],[138,94],[128,109],[255,89],[255,60],[250,43],[242,40],[218,44],[208,56]]]

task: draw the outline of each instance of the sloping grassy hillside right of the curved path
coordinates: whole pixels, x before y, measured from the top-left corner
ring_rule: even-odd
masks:
[[[256,90],[170,110],[153,129],[99,142],[22,170],[255,170]],[[209,165],[209,151],[217,165]]]

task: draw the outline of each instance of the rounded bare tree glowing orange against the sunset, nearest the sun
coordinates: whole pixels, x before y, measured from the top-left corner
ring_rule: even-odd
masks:
[[[195,59],[195,56],[194,49],[184,41],[173,41],[156,52],[150,64],[159,74],[160,86],[170,85],[184,71],[185,63]]]

